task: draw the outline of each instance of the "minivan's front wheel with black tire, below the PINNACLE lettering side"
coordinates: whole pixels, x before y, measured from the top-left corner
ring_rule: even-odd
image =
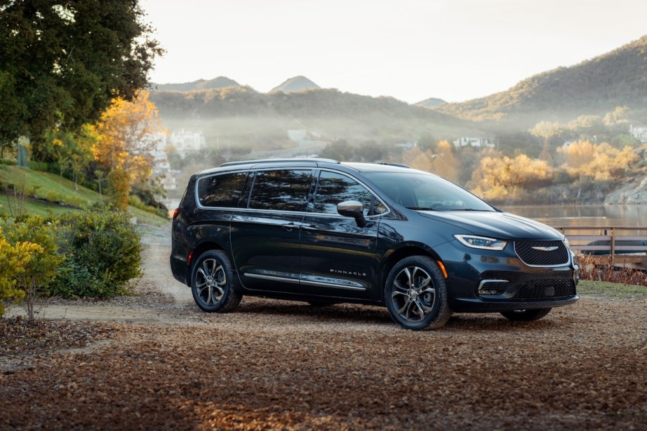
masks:
[[[452,314],[443,273],[427,256],[410,256],[397,262],[384,292],[391,318],[408,330],[437,329]]]

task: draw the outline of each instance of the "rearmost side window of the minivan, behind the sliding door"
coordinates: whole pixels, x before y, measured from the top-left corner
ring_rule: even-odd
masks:
[[[200,178],[198,200],[201,206],[236,208],[247,178],[246,172],[220,174]]]

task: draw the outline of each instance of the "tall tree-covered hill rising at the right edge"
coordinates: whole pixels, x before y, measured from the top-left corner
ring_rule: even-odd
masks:
[[[539,120],[604,115],[616,106],[647,111],[647,36],[575,66],[539,73],[506,92],[435,109],[469,120],[526,127]]]

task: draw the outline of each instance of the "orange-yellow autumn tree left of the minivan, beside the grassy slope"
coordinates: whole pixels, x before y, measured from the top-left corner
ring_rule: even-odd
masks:
[[[145,187],[152,175],[151,151],[156,135],[164,132],[157,107],[141,90],[131,102],[115,99],[94,128],[99,139],[92,154],[108,178],[115,206],[127,209],[131,188]]]

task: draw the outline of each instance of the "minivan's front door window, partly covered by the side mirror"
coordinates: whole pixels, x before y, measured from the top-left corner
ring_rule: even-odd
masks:
[[[359,201],[364,205],[364,215],[369,215],[373,194],[363,185],[345,175],[322,171],[319,174],[315,213],[336,214],[337,204],[344,201]]]

